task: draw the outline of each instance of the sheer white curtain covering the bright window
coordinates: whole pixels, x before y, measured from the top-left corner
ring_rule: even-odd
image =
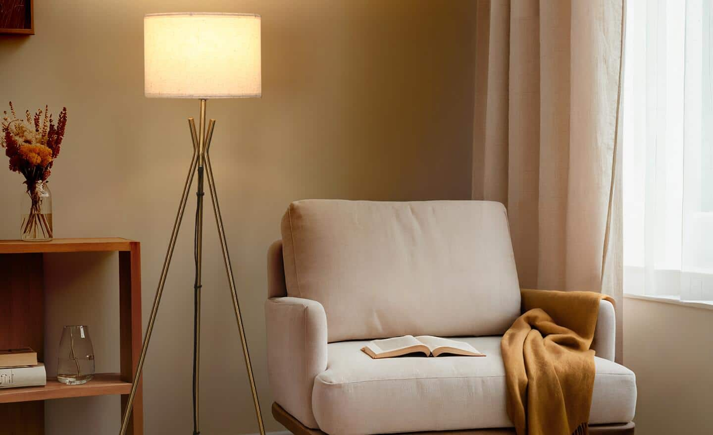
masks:
[[[628,0],[624,291],[713,301],[712,2]]]

